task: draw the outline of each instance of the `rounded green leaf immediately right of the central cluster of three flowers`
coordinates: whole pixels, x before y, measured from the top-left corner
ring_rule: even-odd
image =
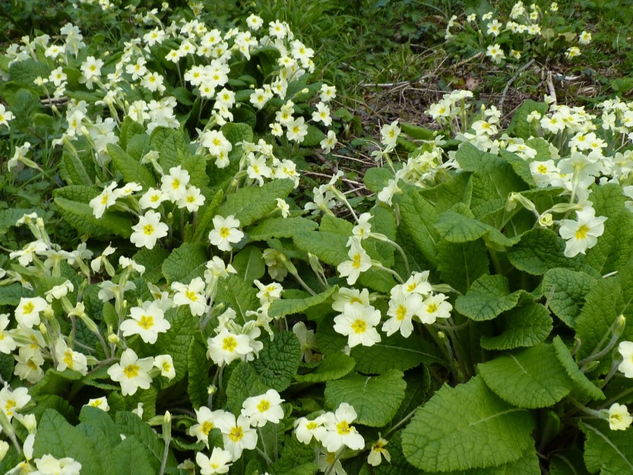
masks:
[[[475,322],[492,320],[515,308],[524,293],[510,293],[508,279],[502,275],[484,274],[473,282],[466,295],[457,297],[455,310]]]

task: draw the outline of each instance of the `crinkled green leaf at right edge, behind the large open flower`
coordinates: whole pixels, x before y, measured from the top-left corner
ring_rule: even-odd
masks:
[[[596,245],[587,250],[587,264],[599,274],[622,270],[633,253],[633,213],[625,207],[622,188],[608,183],[592,188],[596,216],[606,216],[604,232]]]

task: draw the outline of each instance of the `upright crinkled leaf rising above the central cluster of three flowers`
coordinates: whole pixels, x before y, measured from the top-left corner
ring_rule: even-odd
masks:
[[[405,188],[404,196],[400,196],[397,203],[401,219],[399,231],[407,233],[423,257],[435,267],[436,246],[440,240],[435,230],[435,208],[414,187]]]

